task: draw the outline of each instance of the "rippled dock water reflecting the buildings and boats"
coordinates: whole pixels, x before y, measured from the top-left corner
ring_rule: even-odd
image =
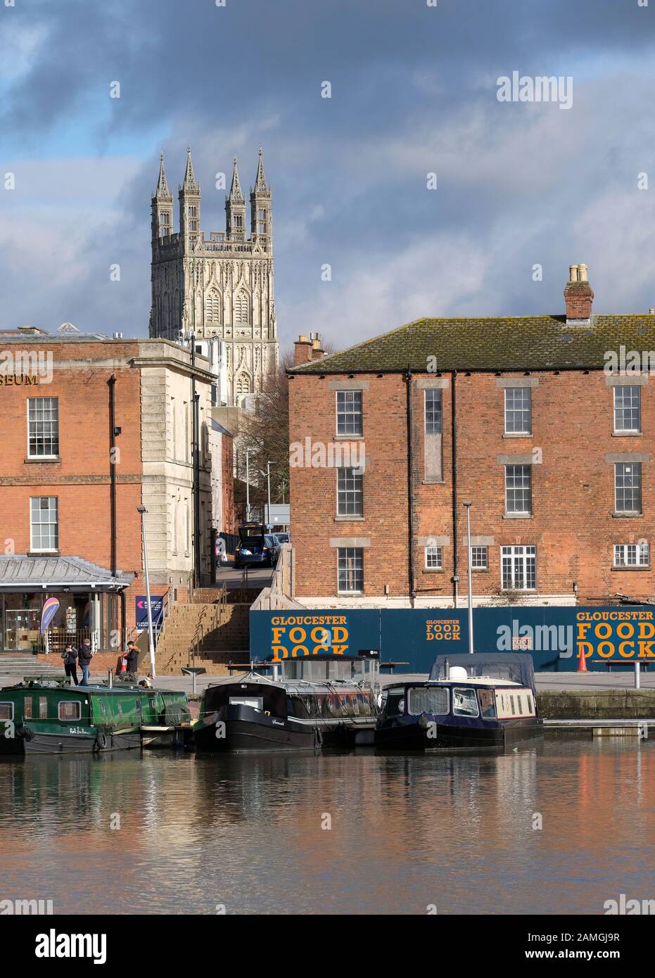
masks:
[[[4,760],[0,853],[55,912],[602,912],[655,897],[655,740]]]

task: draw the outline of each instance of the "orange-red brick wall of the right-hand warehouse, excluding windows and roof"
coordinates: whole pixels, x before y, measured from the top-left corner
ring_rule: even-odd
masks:
[[[514,378],[516,375],[514,375]],[[471,534],[491,539],[489,569],[476,571],[474,595],[496,599],[501,587],[502,545],[537,547],[538,596],[573,600],[574,582],[581,600],[607,600],[617,593],[644,599],[653,593],[649,570],[614,570],[613,544],[645,539],[651,546],[655,514],[655,390],[641,387],[641,436],[613,434],[613,390],[600,371],[536,373],[532,389],[533,434],[503,436],[502,378],[494,374],[458,375],[458,503],[453,523],[452,411],[453,376],[444,375],[443,483],[424,484],[424,407],[418,381],[413,380],[415,501],[415,588],[417,597],[451,600],[454,537],[457,532],[459,593],[466,593],[466,532],[462,501],[470,500]],[[520,375],[524,378],[524,375]],[[334,442],[335,393],[327,376],[296,375],[289,384],[290,440]],[[291,540],[296,560],[296,596],[336,596],[336,549],[330,538],[365,538],[365,597],[409,594],[408,454],[406,383],[400,375],[360,375],[363,392],[364,476],[363,520],[336,519],[336,474],[333,468],[291,467]],[[504,513],[504,467],[499,458],[531,456],[533,515],[519,519]],[[645,455],[642,462],[640,517],[616,517],[614,466],[606,456]],[[419,540],[444,539],[444,568],[424,569]]]

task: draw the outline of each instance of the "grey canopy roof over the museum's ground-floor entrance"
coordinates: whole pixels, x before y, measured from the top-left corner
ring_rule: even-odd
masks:
[[[118,571],[111,577],[106,567],[101,567],[80,556],[0,556],[0,590],[8,587],[59,585],[84,587],[91,584],[127,587],[132,574]]]

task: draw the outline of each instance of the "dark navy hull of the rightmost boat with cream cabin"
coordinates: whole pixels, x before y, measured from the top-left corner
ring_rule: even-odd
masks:
[[[380,750],[476,751],[506,750],[544,736],[537,718],[508,721],[502,725],[457,726],[435,722],[396,724],[375,730],[374,745]]]

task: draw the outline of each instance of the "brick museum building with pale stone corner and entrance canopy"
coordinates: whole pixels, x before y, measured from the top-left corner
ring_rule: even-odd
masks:
[[[232,437],[210,417],[214,378],[168,340],[69,324],[3,332],[0,346],[0,650],[33,649],[50,595],[61,606],[49,641],[91,634],[109,648],[146,590],[138,506],[153,594],[173,600],[210,581],[216,514],[232,529]]]

